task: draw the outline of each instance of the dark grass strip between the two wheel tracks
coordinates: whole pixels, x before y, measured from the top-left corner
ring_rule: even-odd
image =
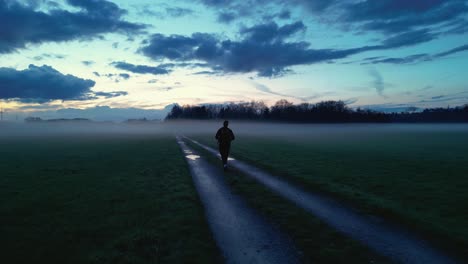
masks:
[[[211,153],[188,144],[221,171],[220,161]],[[291,236],[305,263],[391,263],[241,172],[230,169],[224,175],[235,193]]]

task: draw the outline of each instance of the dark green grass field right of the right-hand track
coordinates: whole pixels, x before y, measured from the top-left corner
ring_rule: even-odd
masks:
[[[330,132],[298,138],[239,134],[232,154],[466,257],[466,131]],[[196,138],[215,146],[208,136]]]

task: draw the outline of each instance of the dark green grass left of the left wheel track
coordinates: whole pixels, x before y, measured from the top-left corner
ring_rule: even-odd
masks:
[[[169,136],[0,140],[2,263],[219,261]]]

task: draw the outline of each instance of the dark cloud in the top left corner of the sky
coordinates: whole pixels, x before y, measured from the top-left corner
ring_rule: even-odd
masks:
[[[106,0],[68,0],[78,8],[39,11],[36,6],[14,0],[0,0],[0,53],[13,52],[27,44],[59,42],[98,37],[118,32],[134,34],[144,28],[122,20],[126,11]]]

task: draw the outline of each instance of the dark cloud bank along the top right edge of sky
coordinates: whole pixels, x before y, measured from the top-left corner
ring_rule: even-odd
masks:
[[[468,31],[468,1],[466,0],[199,0],[218,14],[218,21],[256,20],[278,15],[284,7],[310,12],[317,21],[355,33],[378,32],[386,37],[419,30],[430,32],[424,38],[405,38],[408,45],[427,42],[445,34]],[[266,14],[265,14],[266,13]],[[409,35],[408,35],[409,36]],[[422,37],[422,36],[421,36]]]

